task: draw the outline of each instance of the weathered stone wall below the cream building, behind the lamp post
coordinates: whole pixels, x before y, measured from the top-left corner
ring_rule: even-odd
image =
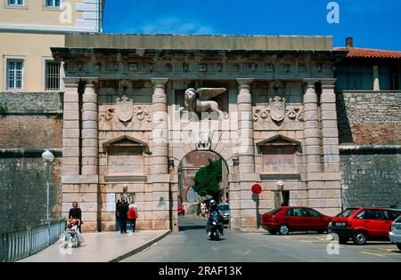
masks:
[[[62,94],[1,92],[0,104],[0,233],[45,223],[45,148],[56,156],[50,206],[60,219]]]

